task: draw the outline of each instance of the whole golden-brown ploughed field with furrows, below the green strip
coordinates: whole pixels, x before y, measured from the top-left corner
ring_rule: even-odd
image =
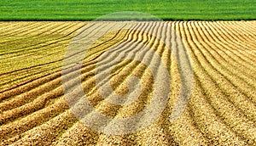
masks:
[[[0,145],[253,145],[254,24],[2,23]],[[67,54],[70,42],[90,43],[83,36],[94,38],[113,28],[116,31],[105,33],[89,49]],[[171,122],[181,87],[186,86],[181,55],[191,59],[193,87],[182,115]],[[64,57],[69,60],[65,70]],[[111,128],[113,121],[137,116],[154,102],[154,93],[161,90],[157,85],[166,86],[155,77],[164,76],[161,63],[169,71],[171,90],[160,115],[135,132],[129,131],[145,121],[143,116],[131,127]],[[134,76],[140,82],[131,81]],[[102,93],[108,84],[113,92]],[[97,113],[111,119],[102,129],[94,125],[105,122]],[[123,134],[108,134],[116,131]]]

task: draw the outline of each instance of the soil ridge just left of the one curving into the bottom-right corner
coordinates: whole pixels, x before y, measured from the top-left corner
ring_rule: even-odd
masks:
[[[185,24],[184,24],[185,25]],[[189,42],[190,34],[187,31],[185,26],[180,25],[180,33],[184,40],[184,44],[191,54],[191,59],[193,60],[193,69],[194,72],[201,70],[201,66],[197,59],[195,59],[195,54],[193,53],[192,48],[196,48],[193,43]],[[195,72],[195,73],[196,73]],[[195,74],[196,75],[196,74]],[[200,74],[201,75],[201,74]],[[195,76],[194,90],[191,93],[189,100],[189,111],[191,116],[195,121],[198,129],[203,133],[203,135],[209,139],[211,143],[224,143],[224,140],[229,138],[233,139],[234,142],[238,143],[241,138],[236,135],[229,126],[226,126],[223,123],[223,120],[218,117],[216,109],[212,106],[211,102],[208,101],[206,94],[203,94],[201,89],[198,87],[198,76]],[[223,137],[218,137],[219,133],[225,133]],[[239,140],[240,139],[240,140]],[[232,142],[232,141],[231,141]]]

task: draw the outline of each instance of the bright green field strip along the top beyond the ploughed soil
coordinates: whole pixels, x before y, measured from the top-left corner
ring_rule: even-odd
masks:
[[[138,11],[163,20],[256,20],[254,0],[2,0],[0,20],[95,20]]]

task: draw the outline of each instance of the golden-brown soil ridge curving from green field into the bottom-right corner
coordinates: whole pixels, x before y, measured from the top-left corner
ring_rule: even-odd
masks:
[[[185,31],[189,31],[185,25],[184,27]],[[188,32],[186,34],[188,34]],[[189,35],[191,34],[189,33]],[[198,70],[195,70],[195,74],[197,74],[198,80],[205,90],[208,102],[212,105],[216,114],[222,119],[224,124],[229,126],[233,132],[236,132],[239,137],[244,140],[247,139],[248,143],[254,143],[253,121],[248,121],[241,111],[236,110],[236,107],[233,104],[230,104],[228,99],[225,98],[224,93],[218,88],[216,83],[212,81],[212,77],[207,75],[207,70],[209,69],[204,68],[207,66],[204,61],[205,58],[202,57],[201,51],[195,51],[195,48],[197,48],[196,44],[190,41],[190,39],[192,38],[188,38],[189,44],[195,45],[194,48],[191,48],[194,49],[196,62],[201,66],[201,71],[200,68],[198,68]]]

